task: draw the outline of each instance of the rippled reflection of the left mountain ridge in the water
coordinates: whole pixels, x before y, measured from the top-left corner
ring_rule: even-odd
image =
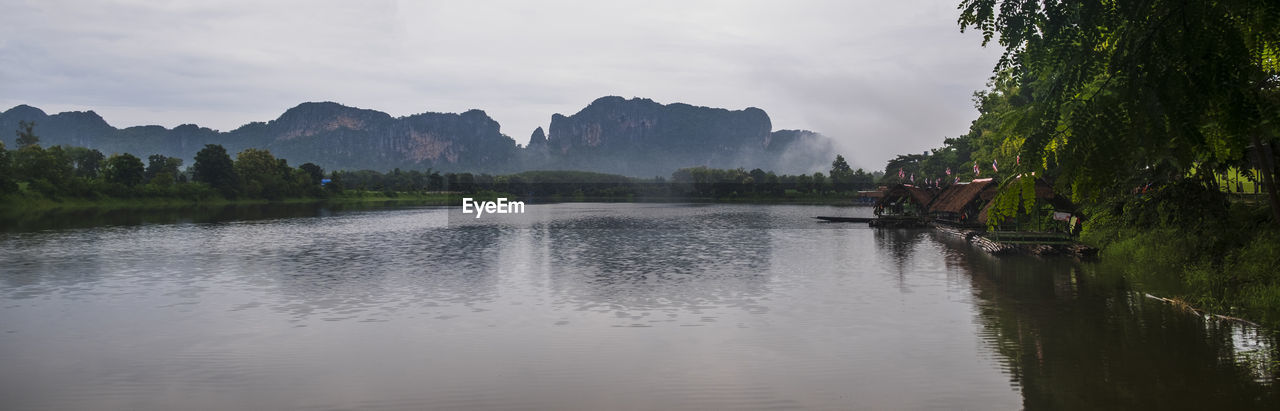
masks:
[[[355,314],[393,301],[468,306],[495,297],[495,227],[371,230],[323,236],[266,262],[292,310]],[[410,293],[406,296],[406,293]]]

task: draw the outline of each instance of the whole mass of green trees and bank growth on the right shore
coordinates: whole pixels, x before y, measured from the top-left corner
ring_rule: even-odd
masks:
[[[1280,324],[1280,3],[963,0],[960,10],[961,31],[1005,49],[974,95],[978,118],[940,149],[890,160],[882,182],[947,168],[948,179],[993,177],[995,225],[1042,207],[1025,177],[1043,178],[1084,209],[1080,239],[1129,278]],[[1253,169],[1247,178],[1270,186],[1270,219],[1219,187],[1219,174]]]

